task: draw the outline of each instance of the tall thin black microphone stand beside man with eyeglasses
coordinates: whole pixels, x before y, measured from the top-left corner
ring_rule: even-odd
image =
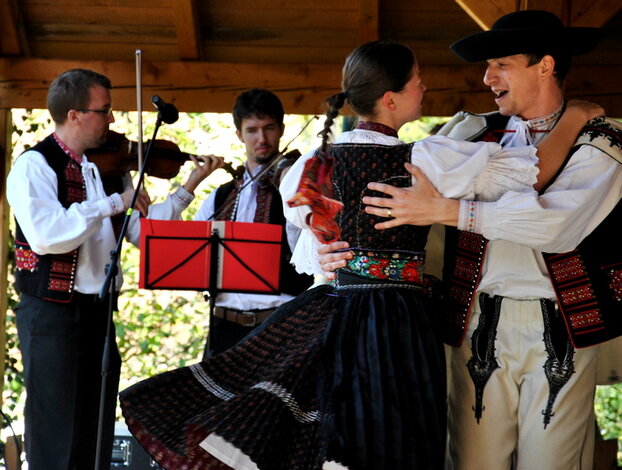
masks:
[[[134,190],[134,195],[132,196],[132,201],[130,202],[130,206],[128,207],[125,213],[125,219],[123,220],[123,226],[121,227],[121,232],[119,233],[119,237],[117,239],[117,245],[113,251],[110,252],[110,263],[106,265],[106,278],[102,284],[101,290],[99,292],[99,299],[103,300],[106,297],[106,293],[109,294],[108,298],[108,323],[106,326],[106,339],[104,342],[104,350],[102,353],[102,383],[99,394],[99,419],[97,423],[97,449],[95,453],[95,470],[107,470],[100,469],[100,459],[101,459],[101,444],[103,439],[103,427],[104,427],[104,411],[105,411],[105,403],[106,403],[106,385],[108,382],[108,375],[110,373],[110,344],[113,340],[113,334],[116,335],[116,332],[112,330],[112,313],[115,307],[115,294],[116,294],[116,275],[118,272],[118,262],[119,262],[119,254],[121,253],[121,246],[123,245],[123,238],[127,232],[127,227],[130,222],[130,218],[132,213],[134,212],[134,207],[136,206],[136,199],[138,198],[138,192],[143,185],[143,180],[145,178],[145,169],[147,168],[147,163],[149,161],[149,155],[151,151],[151,147],[153,142],[155,141],[156,134],[162,125],[162,115],[158,112],[158,119],[156,120],[155,129],[153,131],[153,137],[149,141],[147,145],[147,149],[145,151],[145,155],[143,158],[143,164],[140,168],[138,182],[136,184],[136,189]],[[169,123],[170,124],[170,123]]]

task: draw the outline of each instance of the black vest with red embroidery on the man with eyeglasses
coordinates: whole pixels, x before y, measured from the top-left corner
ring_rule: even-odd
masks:
[[[82,169],[50,135],[32,150],[41,153],[56,173],[58,200],[68,208],[86,199]],[[63,230],[63,227],[58,227]],[[19,223],[15,233],[15,286],[19,292],[54,302],[70,302],[74,292],[78,249],[69,253],[38,255],[30,249]]]

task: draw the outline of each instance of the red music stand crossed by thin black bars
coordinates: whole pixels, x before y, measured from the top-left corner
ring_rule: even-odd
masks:
[[[207,291],[211,321],[220,292],[280,293],[281,238],[280,225],[142,219],[139,287]]]

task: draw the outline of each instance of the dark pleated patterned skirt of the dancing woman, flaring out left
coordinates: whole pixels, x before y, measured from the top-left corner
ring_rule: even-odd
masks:
[[[317,287],[229,351],[124,390],[123,414],[166,469],[440,470],[436,317],[418,290]]]

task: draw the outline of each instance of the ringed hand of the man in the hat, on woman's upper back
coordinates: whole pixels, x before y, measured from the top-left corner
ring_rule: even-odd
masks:
[[[410,163],[406,163],[405,166],[415,178],[416,182],[413,186],[397,188],[382,183],[367,185],[369,189],[390,196],[363,198],[363,204],[367,205],[365,212],[390,219],[374,227],[383,230],[405,224],[431,225],[434,223],[456,226],[460,202],[443,197],[418,167]]]

